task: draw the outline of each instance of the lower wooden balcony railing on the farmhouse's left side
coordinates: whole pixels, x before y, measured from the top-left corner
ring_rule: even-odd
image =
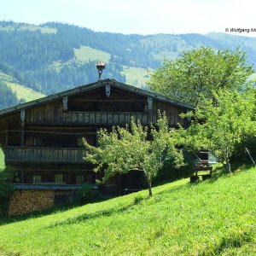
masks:
[[[84,148],[38,148],[13,147],[5,148],[6,162],[51,162],[85,164]]]

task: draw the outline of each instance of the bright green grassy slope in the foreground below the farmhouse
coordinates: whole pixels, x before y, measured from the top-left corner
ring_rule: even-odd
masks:
[[[256,168],[0,226],[3,255],[255,255]],[[14,221],[11,223],[11,221]]]

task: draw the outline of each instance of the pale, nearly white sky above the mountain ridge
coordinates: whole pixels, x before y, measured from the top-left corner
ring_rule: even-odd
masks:
[[[125,34],[229,32],[256,37],[255,0],[0,0],[0,20],[61,21]]]

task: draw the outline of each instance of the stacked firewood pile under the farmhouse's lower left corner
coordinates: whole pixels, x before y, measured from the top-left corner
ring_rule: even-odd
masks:
[[[54,204],[54,190],[16,190],[9,201],[9,216],[43,211]]]

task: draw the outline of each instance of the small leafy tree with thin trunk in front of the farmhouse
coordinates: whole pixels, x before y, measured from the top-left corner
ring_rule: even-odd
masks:
[[[148,183],[148,193],[152,196],[152,179],[170,157],[175,159],[177,166],[183,163],[183,154],[175,146],[177,132],[169,130],[166,117],[160,117],[157,129],[151,126],[148,140],[148,128],[131,121],[131,127],[113,127],[113,131],[99,131],[98,148],[90,146],[84,140],[88,153],[84,160],[96,165],[94,171],[104,170],[105,183],[109,177],[117,173],[127,173],[131,170],[142,170]]]

